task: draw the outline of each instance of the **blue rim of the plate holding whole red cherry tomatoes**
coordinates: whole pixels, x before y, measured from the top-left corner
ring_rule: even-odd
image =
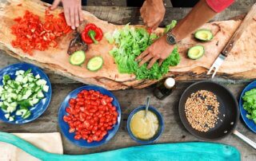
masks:
[[[102,90],[105,90],[105,91],[107,91],[107,92],[110,92],[110,91],[107,90],[106,88],[102,88],[102,87],[100,87],[100,86],[98,86],[98,85],[90,85],[90,84],[89,84],[89,85],[83,85],[83,86],[81,86],[81,87],[75,88],[73,91],[69,92],[66,97],[70,96],[73,92],[76,92],[76,91],[79,91],[79,92],[80,92],[80,91],[82,91],[82,89],[85,89],[85,88],[101,88]],[[118,124],[115,124],[115,125],[114,125],[114,126],[117,126],[118,128],[117,128],[115,131],[113,131],[113,132],[114,132],[114,135],[116,135],[116,133],[118,132],[118,129],[120,128],[120,124],[121,124],[121,120],[122,120],[122,109],[121,109],[121,107],[120,107],[120,104],[119,104],[119,102],[118,102],[118,99],[114,96],[114,94],[113,94],[112,92],[110,92],[110,94],[113,96],[114,100],[116,100],[116,102],[117,102],[117,104],[118,104],[118,107],[117,107],[117,108],[120,110],[120,113],[118,113],[118,116],[120,116],[120,120],[118,120]],[[105,142],[103,142],[103,143],[101,143],[101,144],[98,144],[98,145],[94,145],[94,146],[82,146],[82,145],[79,145],[78,143],[74,143],[69,137],[67,137],[67,136],[65,135],[65,133],[63,132],[62,126],[61,126],[61,124],[60,124],[60,120],[61,120],[61,118],[60,118],[60,113],[61,113],[62,106],[65,105],[64,102],[65,102],[65,100],[66,100],[66,97],[64,98],[64,100],[62,101],[62,104],[60,105],[60,108],[58,109],[58,127],[61,129],[62,135],[64,135],[65,138],[70,141],[70,143],[73,143],[74,145],[76,145],[76,146],[78,146],[78,147],[93,148],[93,147],[100,147],[100,146],[102,146],[103,144],[108,143],[108,142],[114,137],[114,135],[113,135],[109,140],[106,140]],[[65,109],[66,109],[66,108],[65,108]]]

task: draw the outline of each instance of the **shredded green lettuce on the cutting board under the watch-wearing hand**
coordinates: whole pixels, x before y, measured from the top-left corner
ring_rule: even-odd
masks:
[[[174,27],[174,22],[172,24],[169,28]],[[180,57],[176,47],[161,66],[155,63],[151,69],[146,69],[146,64],[138,67],[138,62],[134,61],[134,59],[158,38],[155,33],[152,33],[148,44],[149,35],[146,29],[135,29],[129,25],[126,25],[123,29],[115,30],[112,35],[110,33],[105,34],[106,39],[110,43],[114,40],[116,45],[110,51],[110,54],[114,57],[120,73],[134,73],[138,80],[154,80],[160,79],[164,74],[168,73],[170,66],[178,65]]]

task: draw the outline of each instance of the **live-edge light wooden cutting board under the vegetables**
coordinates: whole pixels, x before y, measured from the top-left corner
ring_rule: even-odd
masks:
[[[21,4],[22,6],[18,6]],[[86,52],[86,60],[96,55],[101,55],[104,59],[104,65],[101,70],[92,73],[84,66],[74,66],[69,63],[69,56],[66,54],[72,33],[58,40],[58,48],[50,48],[44,52],[34,51],[33,56],[23,53],[21,49],[15,49],[10,45],[14,35],[10,33],[10,26],[14,24],[13,19],[22,16],[25,10],[30,10],[34,14],[38,14],[40,18],[44,17],[44,12],[48,5],[38,0],[8,0],[0,6],[0,48],[6,50],[13,57],[26,62],[33,63],[43,69],[50,69],[54,73],[70,77],[76,81],[86,84],[97,84],[110,90],[125,88],[144,88],[156,81],[137,81],[134,75],[118,73],[117,66],[114,64],[113,57],[109,51],[114,47],[107,43],[105,39],[100,41],[98,45],[90,45]],[[62,8],[54,10],[53,14],[62,12]],[[103,32],[113,32],[114,29],[121,28],[108,22],[96,18],[93,14],[86,11],[83,12],[86,22],[93,22],[101,27]],[[218,57],[218,53],[229,41],[234,31],[240,25],[241,20],[230,20],[223,22],[211,22],[202,26],[202,28],[212,29],[214,39],[210,42],[198,42],[194,40],[194,36],[186,37],[178,46],[182,57],[181,63],[176,67],[170,67],[170,72],[166,75],[176,77],[177,80],[191,80],[206,78],[206,70]],[[246,31],[239,38],[237,44],[232,49],[230,56],[219,69],[219,76],[229,78],[256,78],[256,15],[251,20]],[[162,29],[158,29],[157,33],[161,33]],[[206,54],[198,61],[192,61],[186,57],[187,49],[193,45],[202,44],[206,48]]]

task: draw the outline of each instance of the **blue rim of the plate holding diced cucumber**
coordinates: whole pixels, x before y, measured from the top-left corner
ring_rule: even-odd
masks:
[[[40,116],[42,116],[42,114],[43,114],[44,112],[46,112],[46,109],[49,107],[50,101],[51,101],[51,97],[52,97],[52,87],[51,87],[50,79],[49,79],[49,77],[47,76],[47,74],[46,74],[42,69],[40,69],[38,66],[32,65],[32,64],[30,64],[30,63],[19,62],[19,63],[7,65],[7,66],[3,67],[3,68],[0,69],[0,70],[10,68],[10,66],[13,66],[13,65],[30,65],[30,66],[34,67],[34,68],[37,69],[39,72],[41,72],[41,73],[44,75],[44,77],[46,77],[46,81],[47,81],[47,83],[49,83],[49,92],[50,92],[49,98],[48,98],[48,101],[47,101],[47,103],[46,103],[46,108],[44,108],[44,109],[42,110],[42,112],[41,112],[40,115],[34,117],[34,119],[22,121],[22,123],[10,122],[10,121],[6,121],[6,120],[2,120],[2,119],[1,119],[2,122],[8,123],[8,124],[27,124],[27,123],[30,123],[30,122],[32,122],[32,121],[34,121],[34,120],[37,120]]]

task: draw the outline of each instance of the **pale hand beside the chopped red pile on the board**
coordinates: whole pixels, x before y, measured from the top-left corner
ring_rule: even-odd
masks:
[[[54,10],[62,2],[64,8],[64,14],[66,18],[66,24],[75,29],[82,22],[82,2],[81,0],[54,0],[53,5],[50,7]]]

